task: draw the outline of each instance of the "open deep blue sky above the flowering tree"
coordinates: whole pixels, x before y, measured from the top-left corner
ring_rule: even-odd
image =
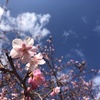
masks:
[[[53,36],[55,55],[100,66],[100,0],[9,0],[8,9],[13,18],[25,12],[48,14],[43,28]]]

